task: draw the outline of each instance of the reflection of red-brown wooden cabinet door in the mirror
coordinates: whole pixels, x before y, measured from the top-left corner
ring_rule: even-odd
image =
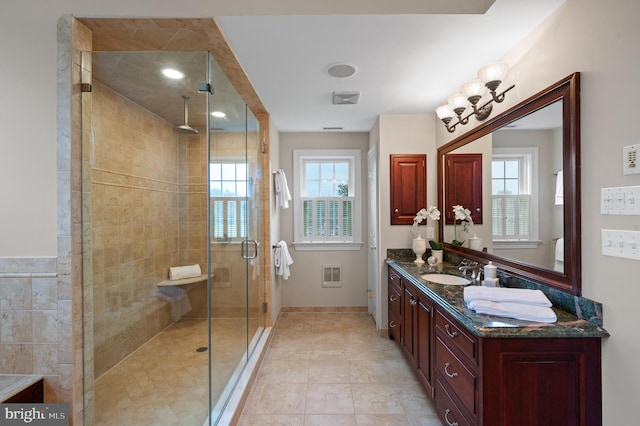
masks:
[[[453,225],[452,208],[461,205],[482,224],[482,154],[447,154],[445,162],[445,223]]]

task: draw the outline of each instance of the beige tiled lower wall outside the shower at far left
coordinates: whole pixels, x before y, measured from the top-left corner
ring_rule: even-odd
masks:
[[[71,379],[71,300],[58,290],[56,260],[0,258],[0,374],[44,376],[47,402],[71,389],[59,379]]]

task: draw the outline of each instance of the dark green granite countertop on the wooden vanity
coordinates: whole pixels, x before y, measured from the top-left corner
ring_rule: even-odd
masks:
[[[465,306],[465,286],[437,284],[421,278],[422,275],[433,272],[461,275],[456,266],[444,263],[433,267],[435,269],[430,269],[426,263],[420,266],[413,262],[393,260],[387,260],[387,263],[398,271],[403,278],[430,296],[440,308],[451,314],[477,336],[489,338],[584,338],[606,337],[609,335],[598,324],[589,322],[586,319],[580,319],[557,307],[552,309],[558,317],[558,321],[551,324],[476,314]]]

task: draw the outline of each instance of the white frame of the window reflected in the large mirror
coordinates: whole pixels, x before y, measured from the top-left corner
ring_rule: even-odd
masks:
[[[493,149],[492,161],[504,161],[509,159],[517,159],[522,166],[520,167],[519,185],[520,193],[529,194],[530,196],[530,236],[529,239],[494,239],[493,246],[500,249],[538,248],[542,243],[542,241],[540,241],[540,220],[538,210],[538,148],[509,147]],[[491,198],[493,199],[493,193]]]

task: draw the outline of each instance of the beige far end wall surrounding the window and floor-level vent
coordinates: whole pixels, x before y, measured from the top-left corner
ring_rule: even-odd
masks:
[[[297,190],[293,179],[294,149],[359,149],[361,151],[362,211],[367,207],[367,133],[280,133],[280,168],[285,171],[289,189]],[[280,239],[289,245],[294,264],[291,276],[280,280],[283,307],[367,306],[367,244],[356,251],[297,251],[293,242],[293,206],[280,210]],[[367,215],[354,225],[367,235]],[[342,265],[342,287],[322,287],[322,265]]]

